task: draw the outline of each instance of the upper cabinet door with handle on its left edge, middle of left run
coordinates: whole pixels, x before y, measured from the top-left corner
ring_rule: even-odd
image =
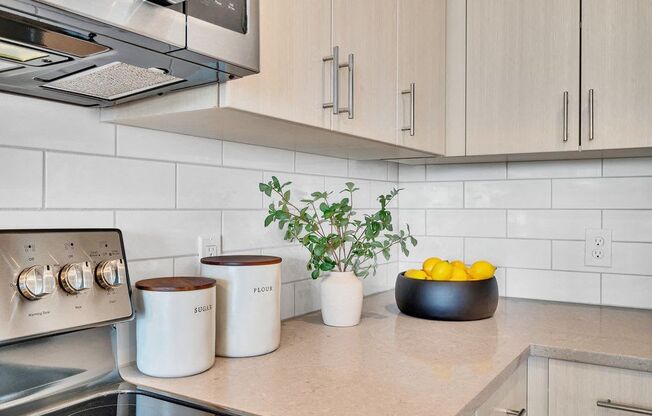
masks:
[[[333,0],[333,45],[340,63],[354,56],[352,86],[340,69],[340,107],[353,87],[353,118],[333,116],[333,129],[396,143],[396,0]]]

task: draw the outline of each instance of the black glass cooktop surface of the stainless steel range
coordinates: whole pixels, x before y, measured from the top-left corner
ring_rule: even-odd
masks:
[[[44,416],[226,416],[145,393],[112,393]]]

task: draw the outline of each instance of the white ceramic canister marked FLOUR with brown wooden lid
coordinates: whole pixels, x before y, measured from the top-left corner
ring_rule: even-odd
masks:
[[[280,257],[205,257],[201,275],[217,281],[215,354],[250,357],[279,347]]]

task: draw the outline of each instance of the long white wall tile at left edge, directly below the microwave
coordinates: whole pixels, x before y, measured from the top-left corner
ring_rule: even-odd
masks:
[[[115,126],[96,108],[0,93],[0,144],[113,155]]]

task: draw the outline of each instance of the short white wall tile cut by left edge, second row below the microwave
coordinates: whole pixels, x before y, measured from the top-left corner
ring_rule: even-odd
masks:
[[[0,148],[0,207],[40,208],[42,204],[43,153]]]

